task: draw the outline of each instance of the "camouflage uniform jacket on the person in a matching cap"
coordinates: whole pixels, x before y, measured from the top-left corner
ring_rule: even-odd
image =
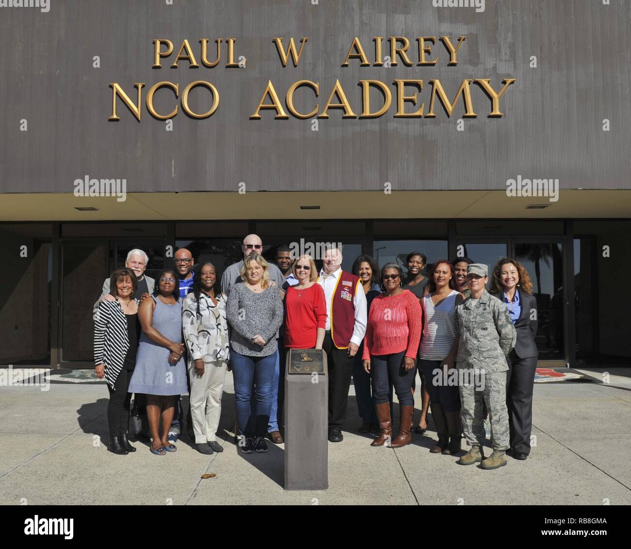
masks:
[[[480,299],[456,306],[459,333],[458,368],[483,368],[486,373],[509,369],[507,354],[517,340],[506,305],[486,290]]]

